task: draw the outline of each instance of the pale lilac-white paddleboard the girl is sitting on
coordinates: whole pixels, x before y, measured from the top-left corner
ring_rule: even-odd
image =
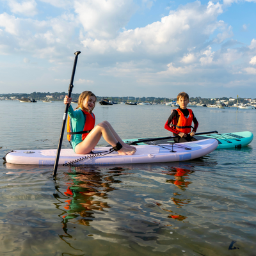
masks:
[[[186,161],[211,153],[218,147],[218,141],[206,139],[186,143],[139,145],[135,147],[137,151],[134,155],[119,155],[115,151],[107,154],[111,147],[95,148],[93,149],[94,154],[84,155],[74,153],[71,148],[61,149],[59,164],[108,165]],[[56,152],[56,149],[13,150],[6,154],[5,161],[12,164],[54,165]]]

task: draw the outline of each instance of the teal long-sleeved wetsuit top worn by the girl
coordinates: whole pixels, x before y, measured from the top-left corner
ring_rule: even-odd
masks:
[[[70,105],[68,108],[68,115],[70,117],[70,122],[72,125],[72,131],[83,131],[84,129],[84,113],[81,108],[74,110],[72,106]],[[92,115],[92,114],[91,114]],[[70,125],[70,124],[67,124]],[[82,140],[82,134],[72,134],[70,143],[72,145],[73,150],[75,151],[76,145],[81,143]]]

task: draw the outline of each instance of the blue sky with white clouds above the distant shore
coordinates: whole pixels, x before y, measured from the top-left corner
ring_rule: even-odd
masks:
[[[256,97],[256,0],[0,0],[0,93]]]

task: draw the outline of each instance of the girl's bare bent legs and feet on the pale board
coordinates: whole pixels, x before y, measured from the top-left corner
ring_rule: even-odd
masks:
[[[81,143],[76,145],[76,148],[75,148],[76,153],[77,154],[90,153],[92,149],[95,148],[95,146],[99,142],[101,136],[103,136],[104,140],[106,140],[111,146],[113,147],[116,146],[116,143],[118,142],[118,140],[116,140],[111,129],[109,129],[109,126],[105,122],[102,122],[96,125]],[[122,143],[122,140],[120,141],[120,143]],[[134,148],[122,147],[120,150],[118,150],[118,154],[132,155],[134,154],[135,151],[136,151],[136,148],[134,150]]]

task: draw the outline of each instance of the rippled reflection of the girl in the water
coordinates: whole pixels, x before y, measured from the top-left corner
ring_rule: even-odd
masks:
[[[65,172],[64,179],[66,190],[62,193],[65,205],[61,214],[63,223],[66,224],[76,219],[79,224],[90,226],[95,214],[108,211],[111,206],[106,202],[108,193],[117,188],[111,186],[120,183],[116,179],[124,169],[113,168],[108,173],[90,167],[70,167]],[[99,212],[98,212],[99,213]]]

